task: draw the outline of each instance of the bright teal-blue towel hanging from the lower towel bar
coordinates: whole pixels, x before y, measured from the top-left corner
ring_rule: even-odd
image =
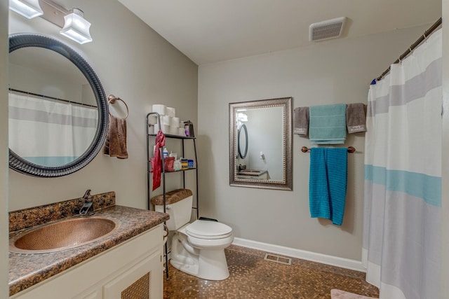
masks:
[[[335,225],[342,225],[346,202],[347,155],[347,148],[311,148],[311,218],[326,218]]]

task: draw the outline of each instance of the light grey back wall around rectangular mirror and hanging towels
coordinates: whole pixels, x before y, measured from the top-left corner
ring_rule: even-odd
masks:
[[[342,227],[309,216],[308,139],[293,136],[293,192],[229,186],[228,103],[293,97],[293,106],[366,103],[368,86],[429,25],[311,44],[199,67],[200,216],[236,237],[361,260],[364,134],[350,134]],[[269,141],[267,141],[269,142]]]

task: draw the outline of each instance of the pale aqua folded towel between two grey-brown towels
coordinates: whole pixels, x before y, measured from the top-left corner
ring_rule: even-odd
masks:
[[[309,108],[311,144],[344,144],[346,139],[346,104]]]

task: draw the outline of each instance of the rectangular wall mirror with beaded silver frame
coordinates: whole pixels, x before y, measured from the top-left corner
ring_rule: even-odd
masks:
[[[231,186],[292,190],[291,101],[229,104]]]

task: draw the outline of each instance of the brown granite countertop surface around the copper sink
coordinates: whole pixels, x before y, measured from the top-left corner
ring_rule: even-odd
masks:
[[[95,216],[114,218],[121,224],[112,235],[73,249],[39,254],[9,253],[9,295],[67,270],[169,218],[168,214],[118,205],[95,210]]]

